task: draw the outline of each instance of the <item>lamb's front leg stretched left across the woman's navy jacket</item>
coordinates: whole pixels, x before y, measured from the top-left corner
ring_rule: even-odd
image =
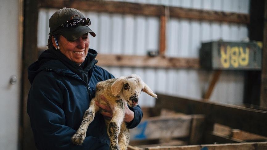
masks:
[[[96,112],[99,110],[99,107],[95,104],[95,98],[90,102],[90,106],[88,110],[85,111],[83,121],[76,131],[76,133],[72,136],[72,143],[76,145],[81,145],[84,142],[84,138],[86,136],[86,131],[89,124],[93,121]]]

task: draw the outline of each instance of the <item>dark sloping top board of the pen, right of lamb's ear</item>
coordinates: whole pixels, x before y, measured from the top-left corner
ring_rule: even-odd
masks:
[[[206,121],[267,136],[267,111],[231,104],[203,102],[202,99],[180,98],[157,94],[155,108],[166,108],[185,114],[204,114]]]

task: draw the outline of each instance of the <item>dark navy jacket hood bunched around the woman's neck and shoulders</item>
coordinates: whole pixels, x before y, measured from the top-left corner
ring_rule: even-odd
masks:
[[[28,67],[28,79],[32,84],[35,76],[43,70],[53,71],[61,75],[76,73],[80,76],[80,74],[88,73],[88,71],[92,69],[96,62],[96,56],[97,51],[89,48],[84,62],[79,66],[72,60],[69,60],[60,51],[47,49],[39,56],[37,61]],[[81,78],[83,79],[83,77]]]

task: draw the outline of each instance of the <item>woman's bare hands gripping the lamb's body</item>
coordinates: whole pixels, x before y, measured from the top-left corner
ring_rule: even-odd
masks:
[[[111,108],[110,107],[109,101],[103,95],[101,95],[100,98],[102,100],[104,100],[108,104],[108,106],[107,105],[104,105],[104,104],[100,104],[97,101],[96,101],[96,105],[99,106],[100,108],[102,108],[104,110],[104,111],[101,112],[101,114],[106,119],[111,120],[112,119],[114,108]],[[131,122],[134,119],[134,112],[129,109],[129,107],[127,106],[127,103],[126,102],[125,102],[125,105],[124,106],[125,106],[125,110],[124,110],[125,111],[125,116],[124,116],[123,121],[126,122],[126,123],[129,123],[129,122]]]

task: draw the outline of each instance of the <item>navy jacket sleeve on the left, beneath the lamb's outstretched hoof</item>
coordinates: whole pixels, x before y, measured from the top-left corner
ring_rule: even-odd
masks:
[[[85,138],[81,146],[72,144],[71,137],[76,131],[65,125],[66,120],[62,109],[64,95],[60,92],[59,83],[49,77],[37,76],[29,91],[27,103],[27,112],[37,148],[42,150],[109,149],[108,144],[101,143],[99,139],[90,136]]]

